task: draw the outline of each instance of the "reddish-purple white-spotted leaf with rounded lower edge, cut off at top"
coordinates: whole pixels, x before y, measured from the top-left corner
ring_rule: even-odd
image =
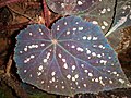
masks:
[[[47,0],[48,7],[56,13],[71,15],[84,12],[98,0]]]

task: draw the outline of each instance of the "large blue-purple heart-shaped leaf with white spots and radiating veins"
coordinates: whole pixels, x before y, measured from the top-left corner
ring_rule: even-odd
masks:
[[[39,89],[74,96],[130,86],[100,28],[80,17],[62,17],[51,30],[29,25],[16,39],[17,73]]]

